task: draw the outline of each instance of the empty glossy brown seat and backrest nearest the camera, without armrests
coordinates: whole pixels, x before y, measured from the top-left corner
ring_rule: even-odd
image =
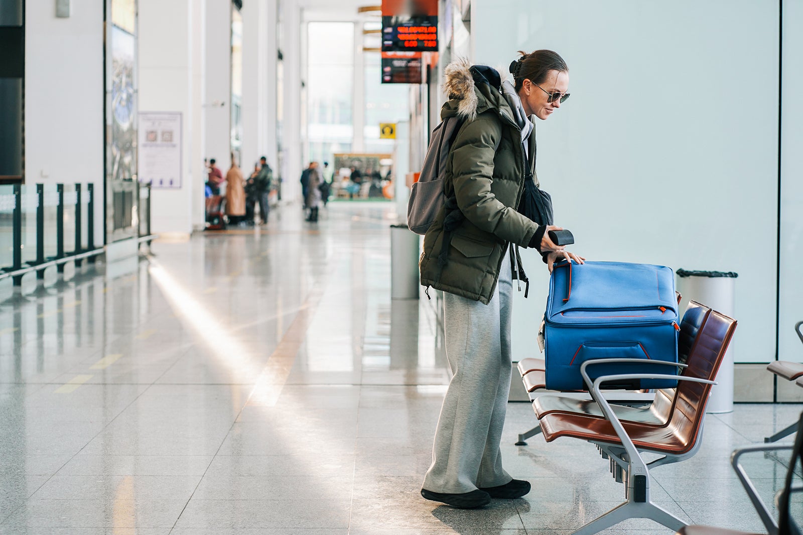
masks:
[[[684,375],[712,380],[728,349],[736,320],[711,311],[699,339],[692,348]],[[636,448],[651,452],[682,454],[691,451],[703,421],[711,385],[681,381],[675,389],[671,416],[665,426],[622,422]],[[593,415],[553,412],[540,420],[544,439],[552,442],[560,436],[572,436],[593,442],[621,444],[609,420]]]

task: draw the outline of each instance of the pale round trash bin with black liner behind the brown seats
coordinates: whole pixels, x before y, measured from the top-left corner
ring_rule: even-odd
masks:
[[[677,270],[678,291],[683,295],[683,306],[690,300],[733,316],[736,290],[736,273],[722,271]],[[719,372],[716,386],[711,388],[706,412],[733,411],[733,346],[728,347]]]

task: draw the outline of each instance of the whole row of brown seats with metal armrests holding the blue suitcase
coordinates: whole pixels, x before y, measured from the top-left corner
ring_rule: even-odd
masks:
[[[605,375],[592,380],[589,368],[597,364],[645,361],[589,360],[582,364],[581,375],[591,399],[543,395],[534,401],[533,409],[547,442],[566,436],[595,444],[602,458],[609,461],[613,477],[625,486],[626,501],[590,521],[575,535],[592,535],[628,518],[650,518],[670,529],[686,525],[651,501],[650,469],[686,460],[699,450],[705,405],[734,330],[736,321],[732,318],[691,302],[680,325],[679,363],[646,361],[654,365],[654,373]],[[666,373],[670,366],[679,368],[680,374]],[[542,383],[542,368],[533,360],[520,363],[528,390]],[[529,377],[532,374],[536,374],[535,378]],[[677,379],[678,386],[657,391],[648,407],[630,407],[605,399],[605,382],[628,379]],[[659,457],[647,463],[642,453]]]

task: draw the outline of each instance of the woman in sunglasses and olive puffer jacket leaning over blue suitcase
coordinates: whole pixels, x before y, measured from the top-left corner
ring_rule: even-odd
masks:
[[[491,67],[446,67],[450,100],[441,117],[464,120],[446,164],[446,206],[424,237],[423,286],[443,290],[446,357],[453,373],[435,432],[422,496],[454,507],[519,498],[530,484],[502,468],[502,435],[511,380],[512,274],[524,281],[516,247],[583,262],[552,243],[517,211],[535,172],[532,116],[546,120],[569,97],[569,67],[552,51],[520,52],[515,86]],[[533,340],[535,345],[535,340]]]

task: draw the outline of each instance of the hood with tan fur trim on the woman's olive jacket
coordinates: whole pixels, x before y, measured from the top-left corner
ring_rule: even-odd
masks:
[[[443,71],[443,90],[450,102],[444,104],[466,120],[474,120],[477,113],[488,107],[507,106],[502,96],[502,83],[507,75],[486,65],[471,65],[467,59],[456,59]],[[454,101],[454,102],[453,102]]]

